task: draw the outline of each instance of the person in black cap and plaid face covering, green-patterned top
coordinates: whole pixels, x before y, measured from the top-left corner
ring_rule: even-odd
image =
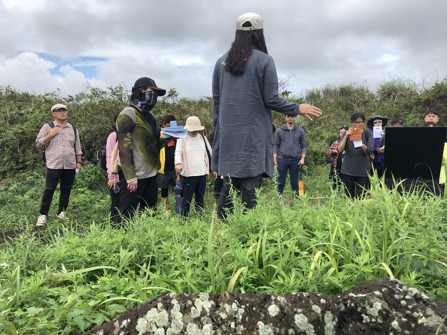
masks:
[[[160,138],[160,126],[151,113],[158,96],[166,90],[143,77],[135,82],[131,105],[122,110],[116,121],[118,129],[120,205],[116,223],[121,217],[131,218],[138,207],[156,209],[160,169],[160,149],[168,142]],[[166,137],[166,135],[163,135]]]

